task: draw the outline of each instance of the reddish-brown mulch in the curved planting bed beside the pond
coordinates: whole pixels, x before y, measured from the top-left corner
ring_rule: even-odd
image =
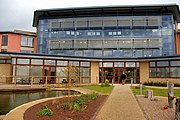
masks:
[[[98,96],[96,100],[88,102],[87,108],[84,111],[63,110],[60,105],[67,101],[73,101],[75,97],[65,97],[55,100],[46,101],[30,107],[24,113],[24,120],[90,120],[100,107],[104,104],[107,95]],[[38,115],[38,111],[48,106],[53,111],[52,116]]]

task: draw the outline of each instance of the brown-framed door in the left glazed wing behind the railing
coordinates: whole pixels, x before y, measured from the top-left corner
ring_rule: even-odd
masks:
[[[46,66],[44,67],[44,76],[48,76],[48,82],[49,83],[55,83],[56,82],[56,68],[52,66]]]

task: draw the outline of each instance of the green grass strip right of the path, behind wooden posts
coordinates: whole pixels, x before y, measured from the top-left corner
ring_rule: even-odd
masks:
[[[163,96],[163,97],[168,96],[168,90],[167,89],[158,89],[158,88],[145,87],[145,88],[143,88],[143,91],[142,91],[143,95],[145,95],[146,90],[153,90],[153,95],[154,96]],[[133,91],[133,93],[135,95],[140,94],[139,88],[132,87],[132,91]],[[174,89],[174,96],[180,97],[180,89]]]

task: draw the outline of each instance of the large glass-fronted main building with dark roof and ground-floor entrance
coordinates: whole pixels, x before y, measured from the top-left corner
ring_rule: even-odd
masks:
[[[179,22],[178,5],[37,10],[38,54],[1,53],[1,65],[9,66],[6,76],[51,76],[56,83],[71,76],[63,72],[68,66],[76,83],[120,83],[122,74],[134,83],[180,83]]]

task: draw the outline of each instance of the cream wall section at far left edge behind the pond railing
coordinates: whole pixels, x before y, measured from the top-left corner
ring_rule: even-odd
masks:
[[[0,64],[0,83],[7,83],[9,79],[4,77],[10,76],[11,74],[11,65],[10,64]]]

